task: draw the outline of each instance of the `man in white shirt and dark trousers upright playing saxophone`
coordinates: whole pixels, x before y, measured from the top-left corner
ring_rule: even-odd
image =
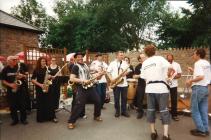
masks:
[[[111,87],[114,92],[114,106],[115,117],[120,116],[120,96],[121,96],[121,115],[130,117],[126,111],[127,106],[127,89],[128,83],[126,81],[126,75],[129,72],[129,66],[126,61],[123,61],[124,53],[122,51],[117,52],[116,60],[112,61],[108,66],[107,72],[110,73]]]

